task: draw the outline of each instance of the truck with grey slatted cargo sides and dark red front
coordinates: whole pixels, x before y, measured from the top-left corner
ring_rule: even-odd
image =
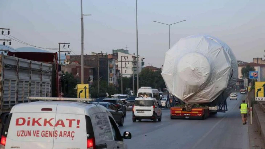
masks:
[[[62,97],[57,53],[8,52],[0,55],[0,131],[11,108],[27,97]],[[0,132],[0,133],[1,133]]]

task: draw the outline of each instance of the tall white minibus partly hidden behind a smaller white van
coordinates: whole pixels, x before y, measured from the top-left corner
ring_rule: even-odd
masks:
[[[159,107],[162,107],[158,89],[153,89],[152,87],[141,87],[137,92],[137,98],[138,97],[156,98]]]

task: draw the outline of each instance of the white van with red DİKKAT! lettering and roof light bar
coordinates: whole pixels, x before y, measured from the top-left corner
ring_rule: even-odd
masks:
[[[62,99],[37,97],[36,100],[40,98]],[[120,149],[127,148],[123,139],[130,138],[129,132],[121,136],[115,120],[104,106],[77,101],[35,101],[11,109],[0,148]]]

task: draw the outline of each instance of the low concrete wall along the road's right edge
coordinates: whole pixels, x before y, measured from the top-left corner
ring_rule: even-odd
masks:
[[[258,134],[262,136],[262,139],[265,142],[265,125],[261,125],[261,124],[264,124],[264,118],[265,118],[264,112],[259,108],[258,104],[254,104],[253,105],[253,119],[257,121]]]

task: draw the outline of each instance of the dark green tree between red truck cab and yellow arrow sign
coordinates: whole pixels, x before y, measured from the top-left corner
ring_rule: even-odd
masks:
[[[61,78],[61,81],[64,97],[76,98],[77,90],[74,88],[76,88],[78,81],[74,78],[72,74],[69,74],[68,72],[62,72],[62,74],[63,76]]]

